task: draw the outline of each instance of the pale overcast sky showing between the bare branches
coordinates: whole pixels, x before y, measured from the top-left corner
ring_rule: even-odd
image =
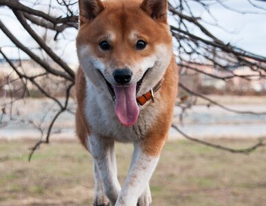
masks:
[[[204,21],[214,23],[209,14],[204,12],[203,8],[201,8],[198,3],[194,3],[194,1],[189,2],[195,16],[201,16]],[[254,2],[258,4],[258,1]],[[227,32],[207,23],[204,23],[204,25],[209,29],[209,31],[225,43],[230,42],[232,45],[246,49],[249,52],[266,56],[266,12],[253,8],[252,5],[245,0],[230,0],[225,1],[225,4],[234,10],[240,10],[248,13],[239,14],[237,12],[226,10],[222,5],[212,5],[210,11],[213,16],[215,16],[219,25],[227,30]],[[266,9],[266,3],[260,3],[259,5]],[[253,12],[258,14],[250,14]],[[30,38],[30,36],[24,32],[21,25],[17,23],[10,10],[0,8],[0,19],[10,29],[14,36],[19,38],[26,46],[31,48],[37,47],[32,38]],[[194,33],[199,34],[200,32],[194,30]],[[77,65],[76,48],[74,43],[75,36],[76,30],[69,30],[65,34],[67,41],[61,38],[61,41],[59,41],[56,46],[53,45],[57,53],[73,66]],[[4,51],[11,58],[17,58],[17,49],[12,49],[10,46],[12,46],[12,43],[10,43],[5,34],[3,34],[0,30],[0,47],[6,47]],[[25,55],[22,54],[22,57],[25,58]]]

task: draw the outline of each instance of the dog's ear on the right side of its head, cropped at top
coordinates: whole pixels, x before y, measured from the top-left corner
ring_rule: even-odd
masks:
[[[141,8],[147,12],[153,19],[167,22],[167,0],[144,0]]]

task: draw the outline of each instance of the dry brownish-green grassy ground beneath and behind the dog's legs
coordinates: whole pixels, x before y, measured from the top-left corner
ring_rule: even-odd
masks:
[[[235,148],[254,142],[215,140]],[[92,158],[76,142],[0,142],[0,205],[92,205]],[[123,182],[132,147],[116,146]],[[153,205],[265,205],[266,148],[233,155],[190,141],[167,143],[151,181]]]

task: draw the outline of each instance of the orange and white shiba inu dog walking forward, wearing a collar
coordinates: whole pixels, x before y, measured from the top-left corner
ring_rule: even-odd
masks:
[[[76,133],[94,159],[94,205],[151,205],[178,72],[166,0],[79,0]],[[121,187],[114,141],[134,144]]]

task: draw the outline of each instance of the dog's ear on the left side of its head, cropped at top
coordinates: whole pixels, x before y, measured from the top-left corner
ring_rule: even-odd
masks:
[[[79,0],[79,22],[88,23],[103,11],[100,0]]]

